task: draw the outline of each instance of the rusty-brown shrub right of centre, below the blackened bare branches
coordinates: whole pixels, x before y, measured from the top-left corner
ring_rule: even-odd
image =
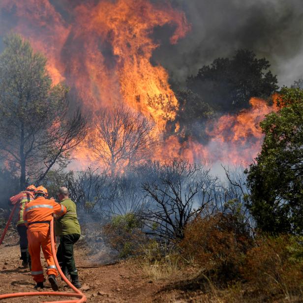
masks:
[[[241,276],[244,254],[252,246],[246,226],[233,214],[196,218],[180,243],[185,258],[198,264],[203,275],[225,283]]]

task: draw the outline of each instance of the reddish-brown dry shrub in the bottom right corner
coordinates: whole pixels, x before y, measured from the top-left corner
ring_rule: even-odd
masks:
[[[251,289],[266,296],[264,300],[278,295],[301,297],[303,237],[283,235],[257,239],[255,247],[246,254],[242,274]]]

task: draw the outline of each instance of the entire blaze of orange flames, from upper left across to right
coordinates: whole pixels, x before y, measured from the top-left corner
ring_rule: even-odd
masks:
[[[65,81],[82,100],[83,110],[91,113],[92,121],[101,119],[96,114],[99,109],[123,102],[152,118],[161,137],[166,122],[175,118],[178,101],[167,71],[151,63],[158,47],[152,32],[156,27],[171,26],[170,42],[174,44],[190,30],[184,13],[163,2],[2,0],[0,29],[30,39],[34,49],[47,56],[53,82]],[[150,99],[159,96],[161,102],[152,105]],[[154,158],[249,163],[262,142],[258,124],[274,110],[259,99],[252,99],[251,106],[238,116],[212,122],[206,146],[190,138],[180,144],[173,135],[162,140]],[[76,157],[84,165],[94,160],[87,146],[78,149]]]

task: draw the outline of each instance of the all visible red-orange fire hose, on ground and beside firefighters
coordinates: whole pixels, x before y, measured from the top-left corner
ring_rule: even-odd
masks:
[[[4,228],[3,234],[0,239],[0,244],[2,243],[4,236],[7,232],[8,226],[11,222],[11,219],[13,217],[13,214],[16,210],[17,204],[15,204],[8,220],[6,223],[6,226]],[[51,244],[52,244],[52,254],[54,257],[54,261],[57,267],[58,272],[60,273],[62,279],[64,282],[75,292],[75,293],[63,293],[63,292],[28,292],[28,293],[15,293],[15,294],[5,294],[5,295],[0,295],[0,300],[3,299],[9,299],[9,298],[17,298],[17,297],[27,297],[27,296],[59,296],[59,297],[76,297],[78,299],[76,300],[65,300],[65,301],[52,301],[52,302],[45,302],[45,303],[83,303],[86,302],[87,298],[86,296],[79,290],[77,289],[62,273],[61,267],[58,263],[57,257],[56,257],[56,244],[55,244],[55,237],[54,237],[54,219],[52,219],[51,224],[50,224],[50,235],[51,235]]]

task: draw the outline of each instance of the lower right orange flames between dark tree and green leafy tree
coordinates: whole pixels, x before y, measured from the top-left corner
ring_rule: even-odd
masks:
[[[155,158],[169,158],[176,155],[188,158],[190,162],[210,165],[214,162],[248,165],[260,152],[264,134],[260,122],[267,114],[277,111],[276,97],[273,105],[259,98],[250,99],[250,109],[238,115],[224,115],[218,121],[210,121],[207,134],[210,139],[205,145],[189,138],[180,144],[175,136],[163,143],[163,148]]]

